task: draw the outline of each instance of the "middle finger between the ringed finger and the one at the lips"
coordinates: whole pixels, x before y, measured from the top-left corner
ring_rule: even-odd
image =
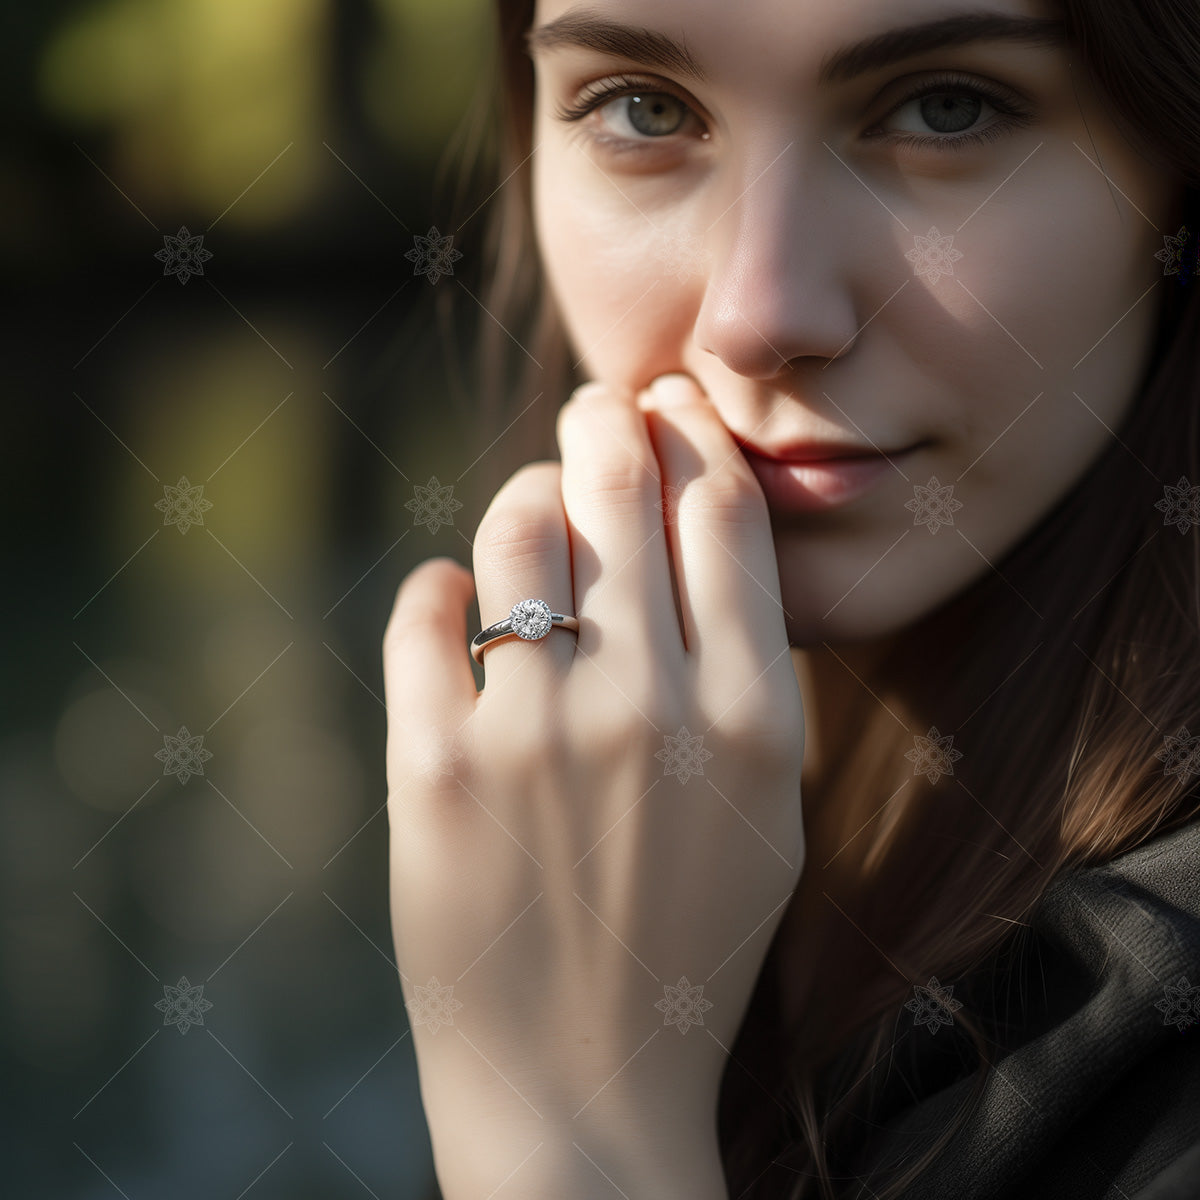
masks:
[[[578,389],[558,414],[558,444],[580,652],[682,666],[659,463],[632,391]]]

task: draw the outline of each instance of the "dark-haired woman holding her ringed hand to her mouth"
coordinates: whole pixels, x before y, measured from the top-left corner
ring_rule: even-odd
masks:
[[[1192,0],[499,47],[494,337],[587,383],[384,641],[443,1194],[1194,1194]],[[578,628],[476,692],[473,595]]]

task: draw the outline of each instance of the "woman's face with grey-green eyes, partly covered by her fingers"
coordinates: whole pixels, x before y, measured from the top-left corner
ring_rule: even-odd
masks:
[[[1003,36],[1051,16],[536,5],[535,223],[574,358],[698,380],[763,481],[794,646],[889,635],[992,570],[1134,401],[1178,190],[1078,55]],[[755,451],[800,442],[888,457],[850,498],[820,469],[776,490]]]

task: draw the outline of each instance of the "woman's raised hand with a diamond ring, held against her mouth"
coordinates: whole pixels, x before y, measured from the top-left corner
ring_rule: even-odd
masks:
[[[493,1136],[493,1186],[547,1130],[715,1140],[727,1048],[804,862],[803,706],[736,443],[685,376],[640,397],[584,385],[558,440],[560,464],[522,467],[488,506],[474,581],[485,624],[539,596],[578,634],[490,646],[476,691],[472,572],[433,558],[383,647],[422,1102],[439,1178]]]

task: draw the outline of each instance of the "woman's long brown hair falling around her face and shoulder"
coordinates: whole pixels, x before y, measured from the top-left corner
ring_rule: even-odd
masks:
[[[523,34],[533,7],[498,0],[484,101],[494,180],[505,182],[485,247],[492,319],[481,325],[479,395],[496,431],[520,409],[546,415],[521,443],[523,458],[556,457],[553,413],[580,382],[532,232]],[[1178,175],[1180,217],[1195,230],[1200,8],[1057,7],[1121,128]],[[970,1042],[961,1073],[973,1066],[977,1087],[872,1193],[899,1195],[978,1099],[1003,1044],[985,983],[997,972],[1025,992],[1013,967],[1049,883],[1200,815],[1192,772],[1170,754],[1184,727],[1200,726],[1200,536],[1156,508],[1165,485],[1200,481],[1200,280],[1163,288],[1139,401],[1108,449],[994,571],[896,638],[868,680],[887,708],[864,689],[845,722],[828,793],[805,809],[800,884],[722,1079],[721,1154],[739,1200],[832,1196],[853,1172],[888,1103],[883,1079],[910,1062],[913,1021],[898,1034],[905,1002],[936,977],[962,1001],[953,1025]],[[962,754],[937,782],[905,756],[932,726],[953,732]]]

